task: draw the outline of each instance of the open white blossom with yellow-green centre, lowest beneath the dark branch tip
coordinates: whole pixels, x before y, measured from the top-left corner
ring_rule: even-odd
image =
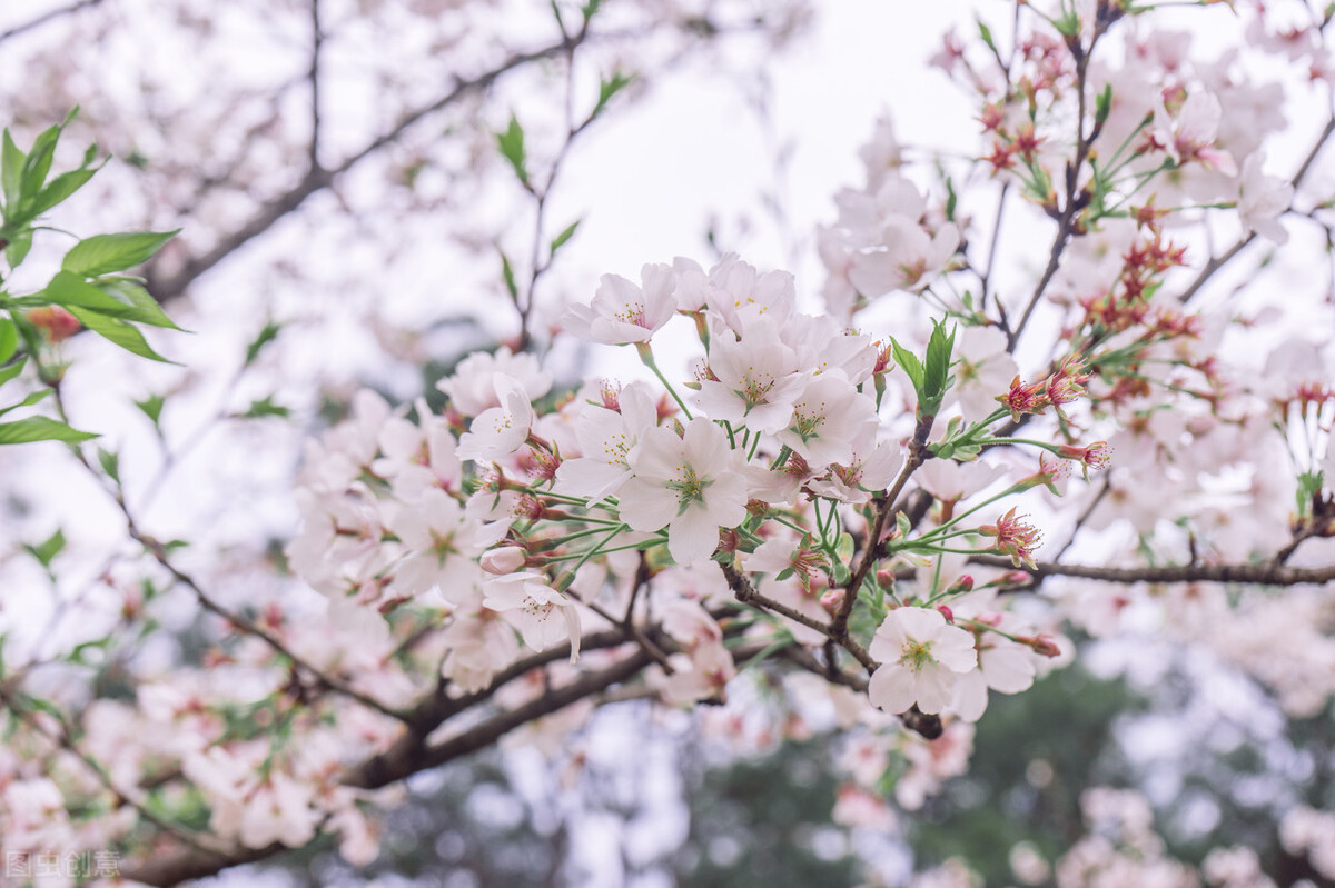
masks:
[[[940,611],[897,608],[885,615],[868,648],[881,661],[866,693],[886,712],[940,712],[951,703],[960,673],[979,664],[973,636],[948,625]]]

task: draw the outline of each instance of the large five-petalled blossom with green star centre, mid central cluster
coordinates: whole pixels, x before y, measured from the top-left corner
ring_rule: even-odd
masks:
[[[708,561],[718,528],[746,519],[741,459],[721,428],[696,417],[684,437],[651,428],[630,456],[635,476],[621,488],[621,519],[637,531],[668,528],[668,551],[678,564]]]

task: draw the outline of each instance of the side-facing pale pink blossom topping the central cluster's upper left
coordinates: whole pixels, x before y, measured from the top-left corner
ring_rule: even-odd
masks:
[[[645,265],[639,280],[643,288],[621,275],[603,275],[593,304],[566,309],[566,331],[609,345],[647,343],[677,313],[677,276],[670,265]]]

